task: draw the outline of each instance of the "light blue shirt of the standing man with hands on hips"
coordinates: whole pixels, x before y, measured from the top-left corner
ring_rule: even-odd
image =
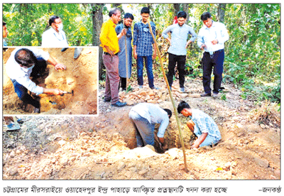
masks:
[[[171,26],[168,26],[166,28],[162,35],[164,38],[168,38],[168,33],[171,33],[170,37],[170,48],[168,49],[168,53],[171,53],[173,55],[186,55],[187,50],[185,48],[185,45],[187,43],[187,37],[188,35],[192,35],[192,42],[195,41],[197,38],[197,35],[193,28],[188,26],[187,24],[183,24],[180,26],[178,23],[175,23]]]

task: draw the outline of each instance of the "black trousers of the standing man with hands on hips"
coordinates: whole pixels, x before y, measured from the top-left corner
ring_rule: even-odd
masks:
[[[180,87],[185,85],[185,58],[186,55],[173,55],[168,53],[168,82],[170,87],[173,85],[173,75],[175,75],[175,65],[178,63],[178,76],[180,81]]]

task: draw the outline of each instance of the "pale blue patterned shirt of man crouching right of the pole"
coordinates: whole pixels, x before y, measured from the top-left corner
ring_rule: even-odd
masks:
[[[221,139],[221,134],[214,120],[199,109],[192,109],[192,121],[195,123],[195,135],[199,138],[201,134],[208,133],[217,140]]]

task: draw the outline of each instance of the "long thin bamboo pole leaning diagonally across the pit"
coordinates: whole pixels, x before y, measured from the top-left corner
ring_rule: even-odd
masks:
[[[150,20],[148,20],[148,25],[149,25],[149,30],[150,30],[150,33],[153,37],[153,40],[155,42],[155,48],[157,49],[157,53],[158,53],[158,57],[159,57],[159,60],[160,60],[160,66],[162,67],[162,71],[163,71],[163,76],[165,78],[165,83],[167,84],[167,87],[168,87],[168,92],[170,94],[170,100],[172,101],[172,104],[173,104],[173,110],[175,111],[175,119],[177,121],[177,124],[178,124],[178,132],[180,134],[180,143],[182,144],[182,153],[183,153],[183,160],[184,160],[184,163],[185,163],[185,171],[187,172],[187,161],[186,161],[186,156],[185,156],[185,145],[183,143],[183,138],[182,138],[182,131],[180,130],[180,119],[178,118],[178,110],[177,108],[175,107],[175,101],[173,100],[173,95],[172,95],[172,91],[170,90],[170,85],[168,84],[168,78],[166,77],[165,75],[165,69],[164,69],[164,66],[163,66],[163,61],[162,61],[162,58],[160,58],[160,50],[158,48],[158,43],[157,43],[157,40],[155,40],[155,36],[153,34],[153,31],[152,31],[152,27],[151,27],[151,23],[150,23]]]

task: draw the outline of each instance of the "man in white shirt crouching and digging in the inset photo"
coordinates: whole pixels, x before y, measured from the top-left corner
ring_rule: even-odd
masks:
[[[48,61],[55,70],[66,70],[66,66],[56,62],[49,53],[38,48],[16,48],[6,62],[6,73],[13,82],[18,97],[25,103],[35,107],[34,112],[40,113],[40,102],[28,94],[28,90],[38,94],[63,94],[60,89],[48,89],[35,85],[30,77],[37,77],[45,71]]]

